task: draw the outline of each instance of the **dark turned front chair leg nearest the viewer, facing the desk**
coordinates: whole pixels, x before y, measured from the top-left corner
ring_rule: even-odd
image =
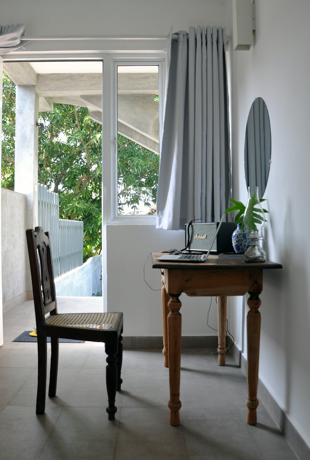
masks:
[[[118,367],[117,363],[117,346],[113,344],[106,343],[106,353],[107,353],[107,367],[106,367],[106,381],[107,381],[107,398],[108,398],[108,407],[107,413],[109,414],[108,419],[115,419],[115,412],[117,407],[115,406],[115,395],[117,387],[117,378],[118,378]]]

